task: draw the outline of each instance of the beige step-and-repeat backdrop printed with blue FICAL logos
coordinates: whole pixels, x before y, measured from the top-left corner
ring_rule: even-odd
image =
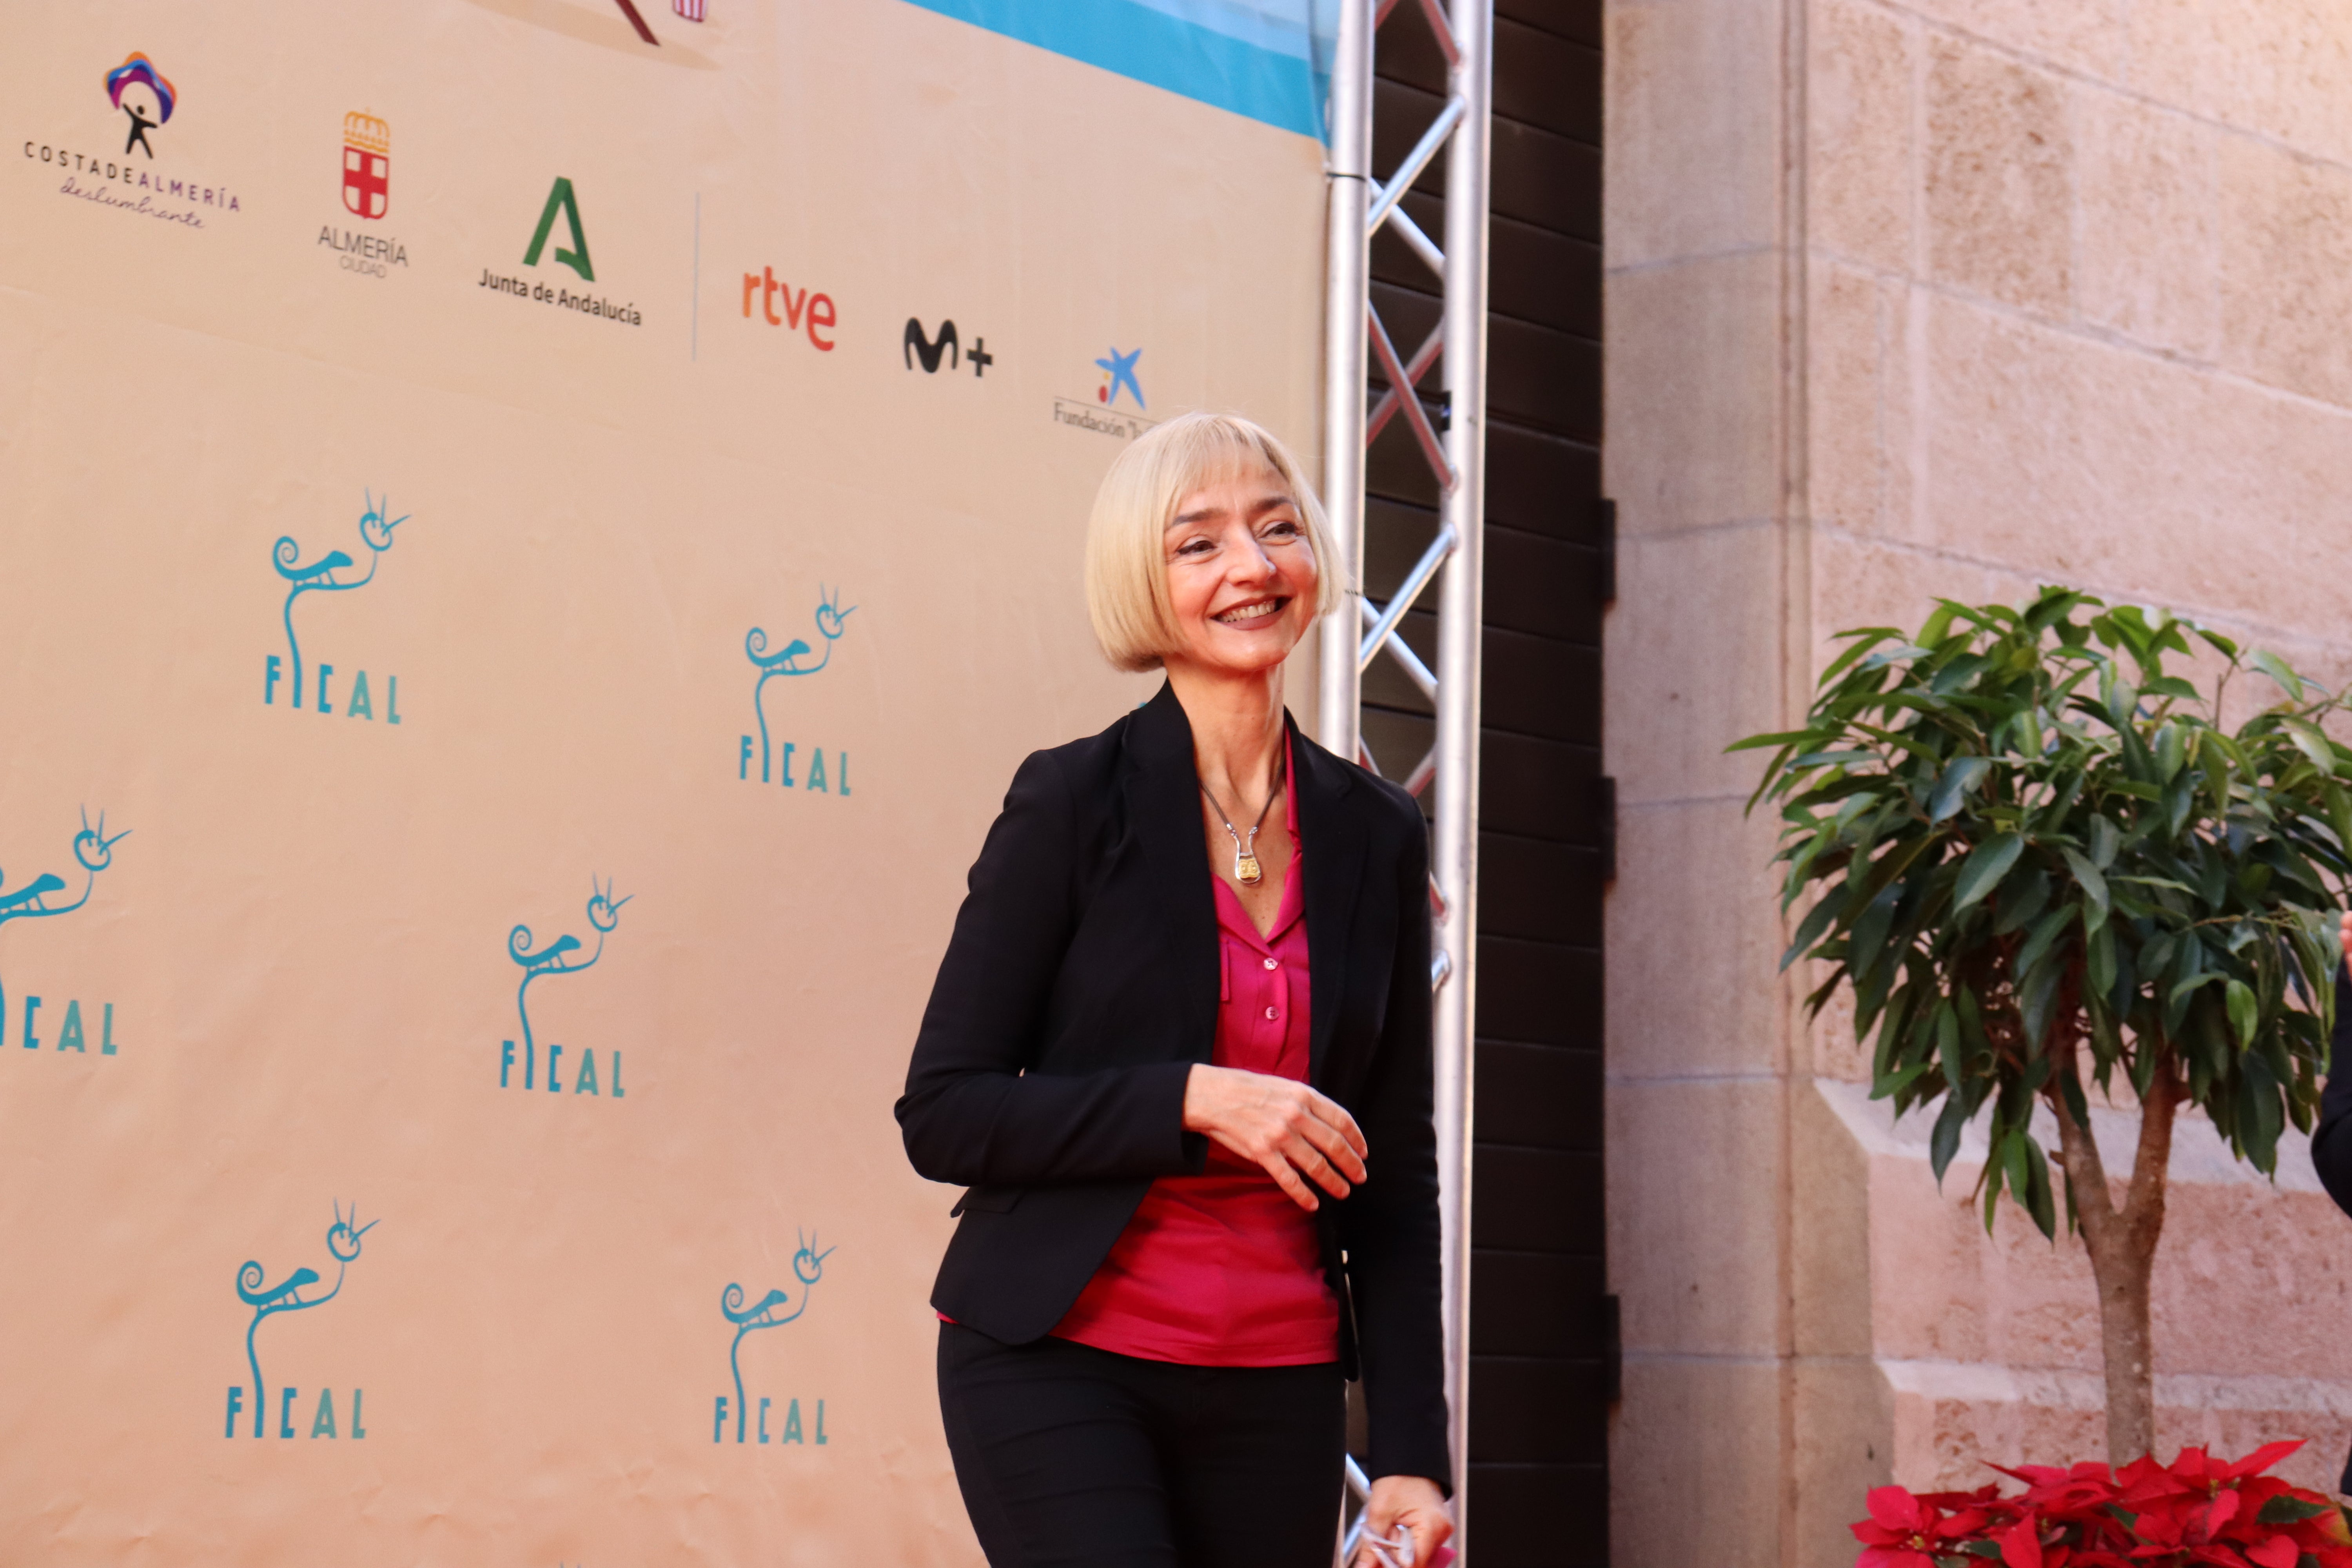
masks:
[[[12,7],[0,1563],[978,1561],[889,1107],[1105,463],[1312,447],[1277,12]]]

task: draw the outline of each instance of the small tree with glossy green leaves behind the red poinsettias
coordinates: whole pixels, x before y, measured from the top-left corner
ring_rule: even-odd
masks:
[[[1780,966],[1825,966],[1816,1013],[1851,990],[1856,1039],[1877,1037],[1872,1098],[1943,1103],[1938,1182],[1990,1107],[1987,1229],[2006,1192],[2042,1234],[2060,1208],[2082,1234],[2122,1465],[2154,1448],[2147,1300],[2180,1107],[2263,1173],[2319,1107],[2328,884],[2352,872],[2352,750],[2319,726],[2338,698],[2220,632],[2065,588],[1842,639],[1806,726],[1733,748],[1771,748],[1748,804],[1788,823],[1783,910],[1811,896]],[[2211,698],[2166,672],[2199,646]],[[2279,701],[2225,729],[2249,665]],[[2138,1107],[2119,1199],[2091,1091]]]

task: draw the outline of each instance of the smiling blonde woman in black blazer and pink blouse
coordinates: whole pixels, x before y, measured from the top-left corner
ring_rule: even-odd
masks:
[[[1087,609],[1167,684],[1021,764],[924,1009],[898,1124],[971,1187],[931,1305],[997,1568],[1329,1563],[1355,1375],[1369,1537],[1451,1533],[1428,835],[1282,705],[1327,559],[1263,428],[1120,454]]]

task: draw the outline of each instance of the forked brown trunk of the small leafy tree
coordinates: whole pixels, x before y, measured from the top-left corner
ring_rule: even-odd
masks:
[[[2070,1053],[2072,1056],[2072,1053]],[[2067,1060],[2060,1072],[2072,1072]],[[2107,1192],[2107,1166],[2091,1128],[2079,1126],[2065,1095],[2051,1091],[2058,1112],[2058,1159],[2074,1187],[2074,1215],[2091,1279],[2098,1281],[2098,1333],[2107,1363],[2107,1462],[2129,1465],[2157,1448],[2157,1361],[2147,1324],[2147,1281],[2164,1237],[2164,1178],[2173,1159],[2173,1110],[2180,1086],[2171,1063],[2157,1070],[2140,1100],[2140,1147],[2131,1161],[2131,1185],[2117,1208]]]

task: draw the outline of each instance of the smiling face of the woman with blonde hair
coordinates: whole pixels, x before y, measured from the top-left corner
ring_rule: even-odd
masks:
[[[1167,663],[1256,675],[1305,637],[1322,564],[1272,468],[1235,470],[1178,501],[1162,543],[1178,637]]]

